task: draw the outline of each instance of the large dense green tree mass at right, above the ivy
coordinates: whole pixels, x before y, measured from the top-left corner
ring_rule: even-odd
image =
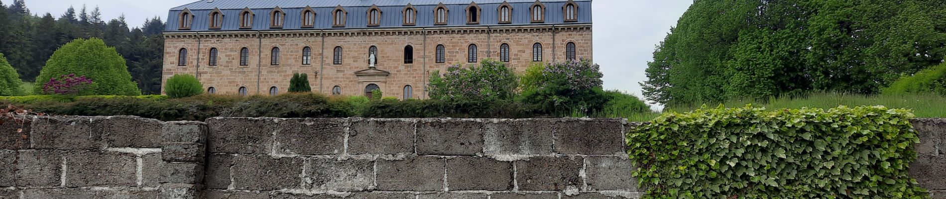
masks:
[[[946,1],[694,1],[657,46],[648,99],[874,94],[946,56]]]

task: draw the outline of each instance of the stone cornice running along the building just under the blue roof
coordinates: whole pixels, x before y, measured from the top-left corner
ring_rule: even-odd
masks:
[[[566,25],[480,25],[438,27],[389,27],[389,28],[345,28],[311,30],[267,30],[267,31],[194,31],[165,32],[165,39],[226,39],[226,38],[302,38],[302,37],[363,37],[363,36],[410,36],[447,34],[508,34],[536,32],[583,32],[591,31],[591,24]]]

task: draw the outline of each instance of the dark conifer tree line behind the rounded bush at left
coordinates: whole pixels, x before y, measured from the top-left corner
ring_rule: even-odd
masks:
[[[0,53],[26,82],[34,82],[45,62],[62,44],[99,38],[125,58],[131,78],[145,94],[161,93],[164,38],[161,18],[129,27],[125,17],[105,22],[99,9],[68,8],[58,17],[32,15],[25,0],[0,0]],[[42,84],[40,82],[39,84]]]

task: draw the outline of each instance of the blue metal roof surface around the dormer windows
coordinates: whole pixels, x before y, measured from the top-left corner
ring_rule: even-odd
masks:
[[[205,1],[205,0],[204,0]],[[178,30],[178,19],[180,18],[180,13],[183,11],[183,7],[180,7],[181,10],[170,10],[167,16],[167,23],[165,30],[167,32],[175,31],[232,31],[232,30],[273,30],[270,28],[270,12],[272,8],[270,6],[262,7],[260,2],[262,1],[253,1],[253,0],[214,0],[214,3],[202,3],[204,1],[194,3],[194,4],[216,4],[218,2],[242,2],[248,3],[241,5],[239,7],[232,8],[219,8],[223,12],[223,25],[219,30],[209,29],[209,18],[210,12],[213,8],[197,7],[191,8],[188,5],[187,9],[194,14],[194,22],[191,25],[189,30]],[[481,0],[482,1],[482,0]],[[509,2],[510,6],[513,7],[512,10],[512,25],[530,25],[530,12],[529,8],[534,4],[534,0],[505,0]],[[577,23],[590,23],[591,22],[591,0],[573,0],[575,4],[578,5],[578,22]],[[425,27],[425,26],[435,26],[433,25],[434,16],[433,10],[436,8],[436,5],[439,5],[440,2],[445,2],[445,6],[449,10],[447,13],[447,26],[454,25],[466,25],[466,12],[464,11],[467,6],[469,6],[469,1],[465,0],[463,4],[453,4],[460,2],[459,0],[334,0],[334,1],[313,1],[313,0],[288,0],[288,1],[278,1],[279,8],[282,8],[286,12],[286,20],[283,24],[283,30],[299,30],[299,29],[330,29],[338,28],[332,27],[332,10],[335,9],[338,3],[348,3],[351,5],[365,5],[368,4],[378,4],[385,3],[385,5],[391,5],[398,3],[395,6],[380,6],[381,9],[381,23],[378,27]],[[292,4],[291,2],[311,2],[317,5],[328,5],[326,2],[332,2],[331,7],[312,7],[315,11],[315,26],[311,28],[302,28],[302,10],[305,6],[299,8],[298,4]],[[403,26],[403,21],[401,15],[402,10],[407,5],[405,2],[410,2],[414,8],[417,9],[417,20],[416,25],[412,26]],[[436,2],[436,3],[433,3]],[[483,2],[490,2],[488,4],[481,4],[477,2],[477,6],[482,8],[481,13],[481,22],[480,25],[499,25],[499,5],[502,0],[486,0]],[[496,3],[499,2],[499,3]],[[565,6],[567,0],[544,0],[542,4],[546,7],[546,18],[544,25],[553,25],[553,24],[564,24],[564,13],[562,13],[562,7]],[[289,6],[284,7],[283,4],[289,3]],[[358,3],[358,4],[356,4]],[[415,4],[420,3],[420,4]],[[451,4],[447,4],[451,3]],[[230,4],[230,3],[227,3]],[[259,4],[254,5],[261,8],[253,8],[251,10],[254,12],[254,22],[253,28],[250,29],[239,29],[239,13],[243,8],[246,8],[249,4]],[[267,5],[273,5],[277,3],[267,3]],[[189,4],[193,5],[193,4]],[[296,6],[292,6],[296,5]],[[220,6],[220,5],[218,5]],[[347,12],[346,25],[348,28],[364,28],[368,27],[367,22],[367,10],[370,7],[343,7]],[[444,25],[436,25],[444,26]],[[278,29],[276,29],[278,30]]]

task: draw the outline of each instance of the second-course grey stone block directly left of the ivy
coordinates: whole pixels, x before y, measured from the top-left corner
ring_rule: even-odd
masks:
[[[586,183],[588,191],[637,191],[638,181],[631,176],[634,166],[630,159],[616,157],[587,157]]]

